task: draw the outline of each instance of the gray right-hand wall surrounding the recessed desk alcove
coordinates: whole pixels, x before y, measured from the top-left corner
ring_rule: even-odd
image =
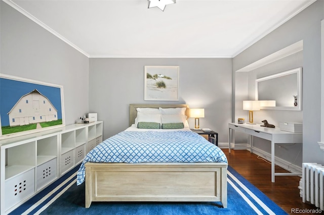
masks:
[[[295,122],[303,121],[303,159],[302,162],[324,164],[323,152],[317,144],[320,141],[320,101],[321,101],[321,53],[320,21],[323,19],[324,1],[316,1],[293,19],[281,25],[254,45],[233,59],[233,72],[245,67],[277,50],[303,40],[303,111],[263,111],[273,124],[278,118],[287,117]],[[239,74],[236,73],[238,77]],[[236,78],[236,82],[238,79]],[[259,113],[258,113],[259,114]],[[296,117],[294,116],[296,115]],[[275,116],[275,117],[274,117]],[[295,117],[295,119],[294,119]],[[234,119],[233,119],[234,120]],[[282,156],[293,159],[298,150],[282,149]]]

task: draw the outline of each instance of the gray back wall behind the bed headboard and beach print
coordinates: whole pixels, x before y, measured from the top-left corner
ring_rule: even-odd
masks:
[[[89,111],[104,121],[104,138],[129,127],[130,103],[187,103],[205,108],[200,127],[228,141],[231,59],[90,59]],[[144,66],[180,66],[179,101],[144,101]],[[194,127],[189,118],[189,126]]]

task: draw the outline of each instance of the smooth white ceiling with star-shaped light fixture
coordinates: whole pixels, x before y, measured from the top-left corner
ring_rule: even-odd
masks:
[[[232,58],[313,0],[4,0],[90,58]]]

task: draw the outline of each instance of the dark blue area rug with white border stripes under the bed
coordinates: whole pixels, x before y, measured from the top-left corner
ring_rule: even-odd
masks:
[[[92,202],[85,208],[85,183],[76,186],[78,167],[10,214],[287,214],[228,167],[228,204],[220,202]]]

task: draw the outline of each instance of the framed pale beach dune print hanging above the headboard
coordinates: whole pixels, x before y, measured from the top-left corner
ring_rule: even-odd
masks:
[[[179,66],[144,66],[144,100],[178,101]]]

